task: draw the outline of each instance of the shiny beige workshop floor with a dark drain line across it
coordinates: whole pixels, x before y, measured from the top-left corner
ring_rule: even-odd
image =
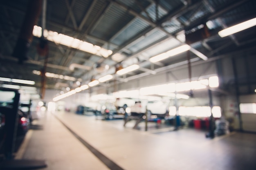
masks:
[[[208,139],[201,130],[157,131],[155,124],[145,132],[133,129],[132,121],[124,127],[123,120],[67,112],[42,113],[33,124],[16,159],[45,160],[43,170],[256,169],[255,134]]]

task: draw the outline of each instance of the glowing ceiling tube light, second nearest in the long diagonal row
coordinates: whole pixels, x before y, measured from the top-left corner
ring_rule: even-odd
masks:
[[[185,45],[179,46],[175,49],[172,49],[170,51],[167,51],[165,53],[162,53],[162,54],[156,55],[154,57],[151,57],[149,59],[149,61],[150,62],[159,62],[159,61],[164,60],[168,57],[172,57],[174,55],[177,55],[177,54],[183,53],[185,51],[188,51],[190,49],[191,49],[191,47],[189,45],[185,44]]]

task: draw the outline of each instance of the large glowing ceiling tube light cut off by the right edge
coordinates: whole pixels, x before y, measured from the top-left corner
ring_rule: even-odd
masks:
[[[237,33],[239,31],[243,31],[243,30],[248,29],[248,28],[250,28],[252,26],[255,26],[255,25],[256,25],[256,18],[253,18],[251,20],[248,20],[248,21],[242,22],[240,24],[231,26],[227,29],[223,29],[222,31],[219,31],[218,34],[220,35],[220,37],[226,37],[228,35]]]

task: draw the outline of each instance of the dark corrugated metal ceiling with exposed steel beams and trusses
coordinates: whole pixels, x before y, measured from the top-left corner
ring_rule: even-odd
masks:
[[[108,83],[157,74],[188,60],[188,53],[156,63],[149,58],[183,44],[191,46],[189,56],[193,62],[205,60],[196,55],[198,52],[210,59],[250,49],[256,42],[255,26],[225,38],[218,35],[222,29],[255,18],[255,0],[47,0],[45,5],[39,0],[37,4],[32,2],[0,2],[0,77],[33,80],[34,86],[41,89],[75,88],[79,86],[77,81],[88,84],[107,74],[115,77]],[[88,42],[91,51],[45,36],[48,53],[40,53],[47,50],[38,50],[42,39],[33,36],[23,60],[22,51],[18,55],[13,52],[19,38],[26,33],[32,35],[32,24],[48,33],[53,31]],[[203,35],[195,34],[198,30]],[[106,55],[99,49],[110,53]],[[118,66],[132,64],[140,68],[122,76],[115,74]],[[105,65],[108,70],[100,69]],[[46,77],[42,83],[44,77],[36,71],[54,74],[48,74],[52,77]],[[8,82],[0,82],[3,83]]]

